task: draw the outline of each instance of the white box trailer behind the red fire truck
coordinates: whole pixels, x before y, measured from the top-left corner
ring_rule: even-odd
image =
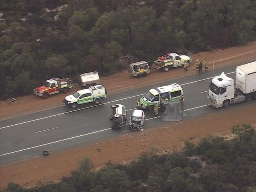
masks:
[[[82,87],[89,87],[100,83],[98,72],[82,73],[79,76],[80,85]]]

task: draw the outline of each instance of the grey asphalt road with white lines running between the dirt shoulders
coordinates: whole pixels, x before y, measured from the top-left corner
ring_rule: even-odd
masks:
[[[228,75],[229,77],[235,78],[235,73],[232,73],[235,70],[236,66],[229,66],[203,72],[203,74],[150,85],[142,89],[109,95],[104,100],[104,103],[98,106],[93,106],[93,104],[89,103],[81,105],[78,109],[72,111],[63,104],[63,107],[56,109],[1,121],[0,162],[23,159],[32,155],[41,155],[43,150],[65,150],[75,145],[130,133],[128,126],[124,127],[122,131],[110,129],[111,121],[109,120],[109,115],[112,111],[110,105],[115,103],[125,105],[128,109],[129,119],[136,107],[136,101],[149,89],[152,89],[152,87],[160,87],[171,83],[182,85],[185,100],[182,103],[182,108],[188,114],[185,118],[193,118],[221,110],[232,110],[234,106],[226,109],[215,109],[209,106],[206,95],[210,81],[214,76],[224,71],[225,73],[231,73]],[[241,103],[237,105],[246,104]],[[146,119],[153,117],[154,111],[145,111]],[[143,129],[166,123],[161,121],[161,118],[153,118],[145,122]]]

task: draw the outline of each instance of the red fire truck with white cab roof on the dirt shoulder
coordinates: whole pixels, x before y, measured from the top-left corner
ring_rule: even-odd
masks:
[[[72,87],[74,87],[74,85],[68,78],[52,78],[45,81],[44,85],[33,89],[33,91],[34,94],[42,96],[43,99],[46,99],[49,95],[55,93],[67,93]]]

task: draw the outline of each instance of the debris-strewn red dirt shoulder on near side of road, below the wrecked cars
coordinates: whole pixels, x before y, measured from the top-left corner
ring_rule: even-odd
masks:
[[[141,153],[154,150],[172,151],[184,146],[184,141],[198,142],[202,137],[230,136],[232,126],[243,123],[256,127],[256,103],[237,104],[235,109],[222,110],[200,118],[168,123],[165,126],[146,129],[144,132],[127,132],[111,140],[101,140],[87,146],[50,153],[49,156],[11,162],[1,166],[0,186],[5,188],[9,182],[19,183],[23,187],[34,186],[39,181],[58,181],[78,168],[79,162],[89,157],[95,168],[106,162],[129,162]],[[209,122],[211,124],[209,124]],[[97,152],[96,149],[100,149]]]

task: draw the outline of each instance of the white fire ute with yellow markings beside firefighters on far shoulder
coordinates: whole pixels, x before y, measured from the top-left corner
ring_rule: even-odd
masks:
[[[152,67],[156,69],[163,69],[163,71],[167,72],[171,67],[183,66],[185,61],[187,61],[188,64],[191,63],[192,56],[167,53],[166,55],[158,57],[158,60],[154,61]]]

